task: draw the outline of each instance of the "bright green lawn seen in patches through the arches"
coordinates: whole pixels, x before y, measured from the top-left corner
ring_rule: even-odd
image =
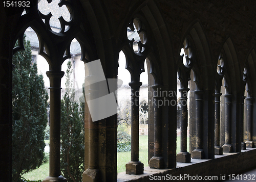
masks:
[[[48,141],[45,141],[49,143]],[[189,137],[187,138],[187,149],[189,150]],[[177,153],[180,151],[180,137],[177,137]],[[147,163],[147,136],[139,136],[139,160],[148,166]],[[117,172],[125,171],[125,164],[131,161],[131,152],[118,152],[117,153]],[[35,169],[23,177],[29,180],[43,180],[49,176],[49,162],[42,164],[38,169]]]

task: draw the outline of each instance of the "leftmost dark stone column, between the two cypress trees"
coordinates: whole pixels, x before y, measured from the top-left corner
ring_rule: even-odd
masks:
[[[43,181],[67,181],[60,175],[60,82],[63,71],[47,71],[50,79],[50,159],[49,176]]]

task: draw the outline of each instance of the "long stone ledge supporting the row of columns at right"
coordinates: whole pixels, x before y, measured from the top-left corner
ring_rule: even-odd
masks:
[[[175,169],[151,169],[144,167],[144,173],[140,175],[118,173],[117,181],[153,181],[150,176],[163,175],[201,175],[201,176],[218,176],[228,174],[239,174],[253,167],[256,163],[251,161],[256,155],[256,148],[242,150],[241,153],[224,153],[223,155],[215,155],[215,159],[191,159],[191,163],[177,163]],[[239,164],[239,165],[237,165]],[[164,180],[161,180],[164,181]],[[169,181],[169,180],[168,180]],[[186,180],[183,180],[186,181]],[[187,180],[190,181],[190,180]]]

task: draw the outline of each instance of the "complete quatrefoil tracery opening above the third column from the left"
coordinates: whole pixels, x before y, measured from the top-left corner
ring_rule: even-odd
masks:
[[[134,53],[140,55],[144,53],[147,43],[147,36],[142,21],[134,18],[127,27],[127,39]]]

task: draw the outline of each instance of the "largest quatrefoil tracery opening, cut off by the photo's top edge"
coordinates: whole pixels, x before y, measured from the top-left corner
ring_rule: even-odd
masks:
[[[38,12],[47,28],[56,33],[65,33],[73,21],[71,2],[61,0],[59,3],[52,0],[41,0],[38,3]],[[55,30],[56,28],[57,30]],[[57,32],[59,29],[59,32]]]

